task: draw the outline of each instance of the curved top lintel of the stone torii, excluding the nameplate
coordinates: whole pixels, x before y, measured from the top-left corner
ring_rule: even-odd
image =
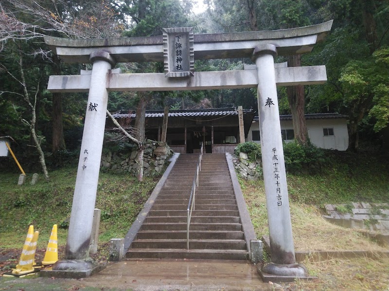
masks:
[[[310,52],[331,30],[333,20],[324,23],[258,32],[194,34],[195,59],[251,57],[260,44],[273,44],[279,55]],[[45,36],[45,43],[66,63],[89,63],[89,54],[103,50],[118,63],[163,61],[162,36],[106,39],[67,39]]]

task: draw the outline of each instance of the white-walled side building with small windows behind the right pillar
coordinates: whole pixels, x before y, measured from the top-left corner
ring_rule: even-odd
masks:
[[[346,150],[349,145],[347,115],[338,113],[305,114],[308,136],[315,146],[327,149]],[[285,143],[294,139],[292,115],[280,115],[281,135]],[[247,142],[260,143],[258,116],[254,117],[248,132]]]

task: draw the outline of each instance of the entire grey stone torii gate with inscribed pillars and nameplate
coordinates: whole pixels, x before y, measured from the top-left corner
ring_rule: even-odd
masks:
[[[45,37],[63,62],[92,63],[77,76],[50,76],[51,92],[89,92],[85,126],[71,209],[65,260],[55,271],[90,273],[89,240],[96,200],[108,91],[169,91],[258,88],[263,172],[274,275],[304,276],[296,265],[276,86],[322,84],[325,66],[285,67],[276,55],[310,52],[331,30],[332,21],[262,32],[193,34],[192,28],[164,29],[163,36],[115,39]],[[196,59],[251,57],[245,70],[195,72]],[[165,73],[122,74],[116,63],[164,62]]]

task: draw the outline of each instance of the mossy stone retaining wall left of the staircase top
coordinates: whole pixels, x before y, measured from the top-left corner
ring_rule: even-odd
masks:
[[[164,169],[166,159],[173,154],[173,150],[162,142],[146,141],[143,152],[143,176],[160,175]],[[132,152],[111,152],[102,155],[100,167],[118,172],[129,172],[136,175],[138,169],[138,149]]]

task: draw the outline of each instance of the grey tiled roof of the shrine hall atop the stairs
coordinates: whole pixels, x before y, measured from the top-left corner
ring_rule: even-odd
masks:
[[[243,113],[253,113],[253,110],[243,110]],[[174,116],[221,116],[221,115],[238,115],[235,108],[211,108],[211,109],[192,109],[192,110],[170,110],[169,117]],[[135,118],[136,113],[116,112],[112,114],[115,118],[131,117]],[[163,110],[146,111],[146,117],[163,117]]]

